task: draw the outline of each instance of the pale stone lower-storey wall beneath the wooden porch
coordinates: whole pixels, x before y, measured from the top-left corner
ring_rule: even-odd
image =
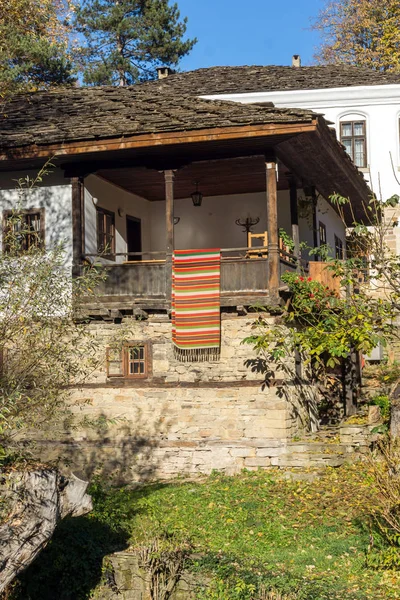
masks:
[[[101,361],[73,401],[79,418],[96,426],[52,431],[39,442],[41,457],[55,457],[61,443],[82,476],[100,467],[129,481],[279,466],[299,427],[297,391],[288,380],[282,387],[283,373],[269,373],[265,385],[265,365],[242,344],[256,315],[222,316],[215,362],[179,362],[166,315],[92,323]],[[106,348],[121,339],[151,342],[148,379],[107,379]]]

